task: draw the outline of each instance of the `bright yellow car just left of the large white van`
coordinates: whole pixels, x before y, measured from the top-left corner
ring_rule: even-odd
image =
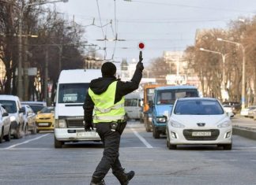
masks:
[[[37,112],[36,132],[53,131],[55,129],[55,107],[48,106]]]

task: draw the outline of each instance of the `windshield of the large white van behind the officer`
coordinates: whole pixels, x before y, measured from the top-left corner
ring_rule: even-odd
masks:
[[[84,103],[88,83],[59,84],[58,103]]]

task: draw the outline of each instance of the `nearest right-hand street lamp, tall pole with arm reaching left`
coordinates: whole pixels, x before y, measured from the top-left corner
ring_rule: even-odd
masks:
[[[245,48],[243,46],[242,43],[236,43],[234,41],[230,41],[230,40],[224,40],[221,38],[217,38],[218,41],[220,42],[225,42],[225,43],[232,43],[235,44],[235,46],[239,46],[242,48],[242,52],[243,52],[243,67],[242,67],[242,97],[241,97],[241,108],[244,109],[245,108]]]

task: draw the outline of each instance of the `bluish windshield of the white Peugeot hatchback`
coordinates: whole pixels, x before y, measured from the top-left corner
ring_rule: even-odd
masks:
[[[178,100],[174,113],[179,115],[219,115],[224,114],[224,110],[216,100],[190,99]]]

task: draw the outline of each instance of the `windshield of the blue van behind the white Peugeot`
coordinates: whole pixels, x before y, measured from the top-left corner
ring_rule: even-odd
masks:
[[[156,95],[156,104],[174,104],[177,98],[198,97],[198,91],[193,89],[171,89],[158,91]]]

